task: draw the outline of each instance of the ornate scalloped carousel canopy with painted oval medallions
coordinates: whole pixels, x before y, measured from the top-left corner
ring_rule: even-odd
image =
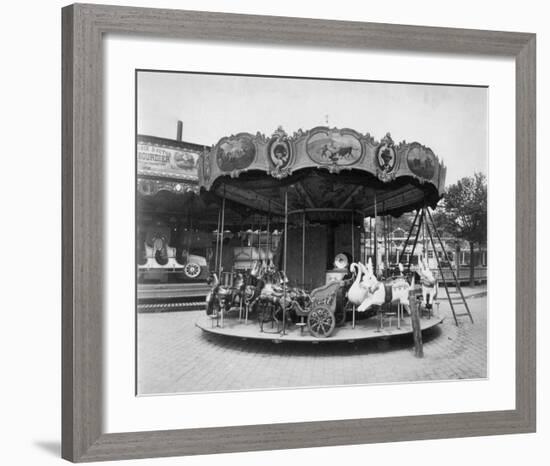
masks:
[[[283,215],[287,193],[290,212],[336,221],[346,211],[374,216],[375,200],[378,215],[435,207],[446,174],[418,142],[395,145],[389,134],[377,142],[370,134],[328,127],[292,136],[279,128],[271,137],[224,137],[200,156],[198,170],[206,195]]]

